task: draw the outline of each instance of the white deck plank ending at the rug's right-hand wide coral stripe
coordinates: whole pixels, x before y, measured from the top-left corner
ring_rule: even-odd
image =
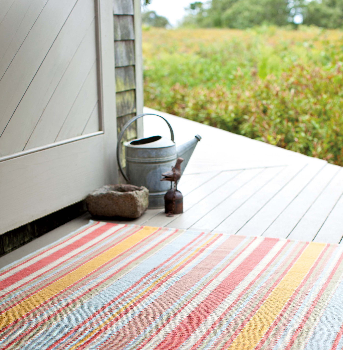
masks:
[[[312,178],[290,205],[275,219],[263,233],[265,237],[285,238],[294,229],[306,211],[320,196],[325,187],[337,173],[337,166],[328,164]]]

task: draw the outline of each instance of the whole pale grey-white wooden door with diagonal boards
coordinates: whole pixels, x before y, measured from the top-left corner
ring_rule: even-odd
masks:
[[[116,181],[113,3],[0,0],[0,234]]]

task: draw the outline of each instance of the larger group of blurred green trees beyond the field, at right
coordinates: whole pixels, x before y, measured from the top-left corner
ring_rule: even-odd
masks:
[[[290,23],[324,28],[343,27],[343,0],[212,0],[187,9],[185,26],[245,29]]]

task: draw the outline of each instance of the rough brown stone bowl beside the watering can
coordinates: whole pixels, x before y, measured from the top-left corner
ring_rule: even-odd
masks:
[[[105,185],[86,198],[87,209],[93,216],[136,219],[149,205],[149,190],[128,184]]]

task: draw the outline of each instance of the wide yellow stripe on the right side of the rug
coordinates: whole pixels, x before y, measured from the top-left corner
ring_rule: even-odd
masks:
[[[305,278],[325,246],[326,244],[324,243],[310,243],[306,247],[290,271],[287,272],[273,292],[267,297],[228,349],[241,350],[255,348],[286,305],[288,299]]]

